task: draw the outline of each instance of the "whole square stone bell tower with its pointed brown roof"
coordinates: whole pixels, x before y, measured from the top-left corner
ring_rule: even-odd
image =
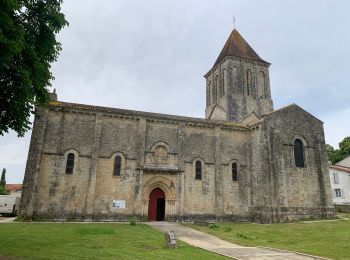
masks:
[[[206,79],[205,117],[240,122],[273,110],[270,63],[264,61],[234,29]]]

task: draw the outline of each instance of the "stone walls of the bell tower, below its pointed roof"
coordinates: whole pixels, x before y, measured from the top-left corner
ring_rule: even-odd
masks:
[[[247,70],[251,71],[247,90]],[[239,122],[273,110],[268,64],[226,57],[207,75],[206,118]]]

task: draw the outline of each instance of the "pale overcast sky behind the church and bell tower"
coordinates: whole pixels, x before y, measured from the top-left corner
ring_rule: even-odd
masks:
[[[274,108],[296,103],[335,147],[350,136],[350,1],[66,0],[52,64],[58,99],[204,117],[205,80],[236,29],[271,63]],[[0,136],[0,168],[21,183],[31,132]]]

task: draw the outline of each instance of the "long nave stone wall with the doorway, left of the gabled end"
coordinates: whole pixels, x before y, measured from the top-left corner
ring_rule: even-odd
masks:
[[[31,193],[35,195],[33,215],[50,219],[125,219],[138,215],[147,219],[147,194],[143,192],[148,179],[156,176],[174,184],[175,200],[168,201],[166,213],[169,219],[239,216],[247,210],[242,201],[247,163],[244,128],[224,130],[146,119],[142,137],[138,117],[56,109],[45,113],[48,119],[35,179],[38,188]],[[144,150],[140,153],[141,137]],[[178,169],[176,174],[143,170],[153,165],[152,149],[159,143],[167,146],[169,165]],[[70,175],[65,167],[71,152],[75,165]],[[116,154],[123,157],[118,177],[113,176]],[[195,180],[197,159],[203,162],[202,180]],[[232,181],[232,160],[239,163],[242,184]],[[113,200],[125,200],[126,208],[113,208]]]

